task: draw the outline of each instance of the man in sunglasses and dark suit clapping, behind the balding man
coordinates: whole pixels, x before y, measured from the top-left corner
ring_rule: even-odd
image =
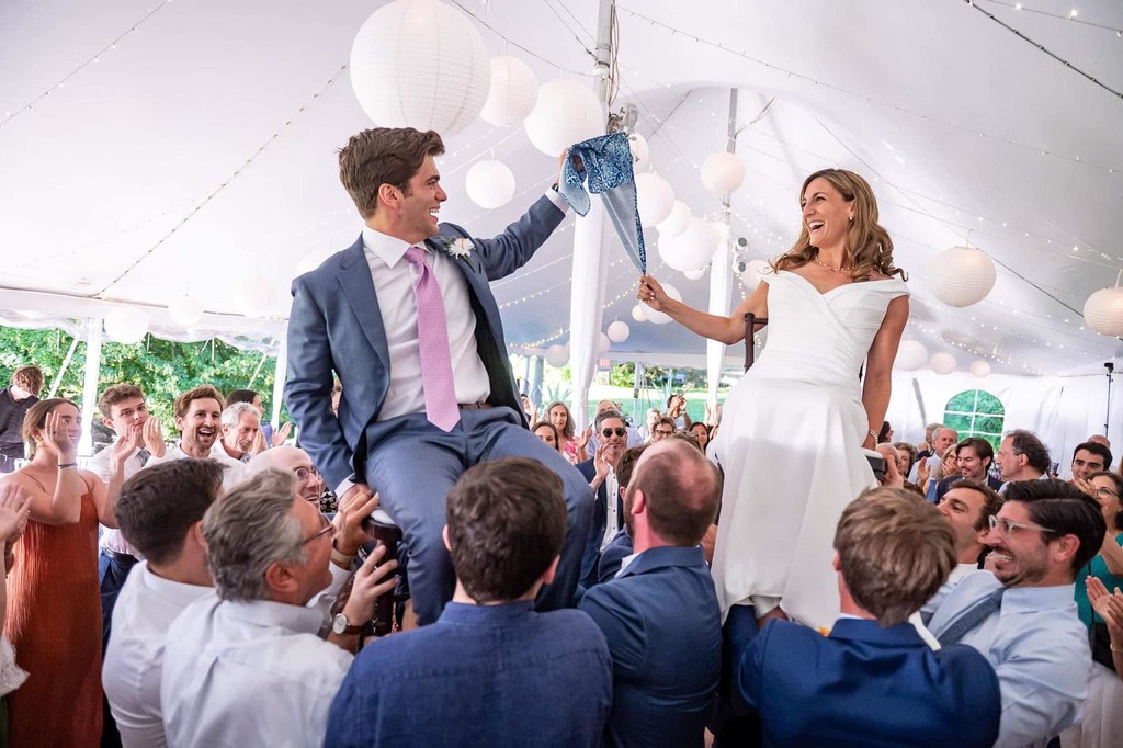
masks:
[[[593,530],[581,562],[581,583],[585,587],[596,583],[596,562],[603,548],[623,526],[624,507],[620,496],[617,466],[628,448],[628,426],[619,410],[604,410],[596,414],[593,430],[600,438],[592,459],[577,463],[577,469],[596,492],[593,510]],[[609,499],[612,501],[609,501]]]

